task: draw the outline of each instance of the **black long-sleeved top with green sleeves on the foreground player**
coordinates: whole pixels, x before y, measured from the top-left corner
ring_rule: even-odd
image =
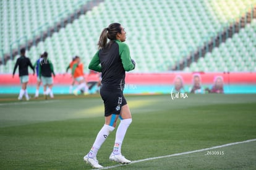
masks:
[[[97,51],[88,68],[102,72],[102,85],[119,89],[125,84],[126,71],[133,70],[134,67],[129,47],[119,40],[114,40],[106,48]]]

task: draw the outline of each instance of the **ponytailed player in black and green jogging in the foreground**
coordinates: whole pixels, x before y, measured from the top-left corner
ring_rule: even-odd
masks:
[[[123,43],[124,41],[126,41],[126,32],[120,23],[111,23],[104,28],[98,41],[99,50],[88,67],[102,73],[100,95],[105,106],[105,124],[98,132],[91,150],[83,157],[84,161],[93,168],[103,168],[98,163],[96,155],[110,132],[116,127],[118,117],[121,121],[116,130],[116,140],[109,160],[122,164],[130,163],[121,154],[122,141],[132,122],[132,115],[123,90],[126,71],[133,70],[135,62],[130,58],[129,47]]]

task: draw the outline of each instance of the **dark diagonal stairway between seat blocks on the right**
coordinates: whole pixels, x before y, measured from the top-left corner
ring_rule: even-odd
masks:
[[[256,19],[256,6],[254,6],[253,10],[246,12],[237,22],[229,25],[228,28],[224,28],[222,32],[211,38],[205,45],[197,48],[196,51],[192,51],[189,56],[184,57],[181,61],[178,61],[177,64],[173,66],[172,70],[184,70],[186,67],[190,67],[190,64],[197,62],[200,57],[205,57],[205,54],[218,48],[221,43],[225,43],[228,38],[232,38],[233,35],[244,28],[247,23],[251,23],[252,17]],[[192,67],[194,67],[194,65],[192,65]]]

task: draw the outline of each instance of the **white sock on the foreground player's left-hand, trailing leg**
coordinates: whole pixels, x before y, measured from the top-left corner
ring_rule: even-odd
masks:
[[[106,138],[108,137],[110,132],[112,132],[113,130],[114,130],[113,126],[106,125],[106,124],[103,125],[100,132],[98,132],[95,142],[93,143],[93,147],[91,148],[91,150],[88,153],[88,156],[90,158],[94,158],[97,155],[98,150],[100,149],[101,145],[105,142]]]

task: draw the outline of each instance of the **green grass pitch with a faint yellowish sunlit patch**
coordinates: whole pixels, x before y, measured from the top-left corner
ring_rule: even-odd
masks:
[[[126,96],[133,122],[122,154],[132,161],[256,138],[256,95]],[[100,96],[0,96],[0,169],[91,169],[83,162],[104,124]],[[98,152],[102,166],[116,130]],[[255,169],[256,142],[153,159],[111,169]]]

